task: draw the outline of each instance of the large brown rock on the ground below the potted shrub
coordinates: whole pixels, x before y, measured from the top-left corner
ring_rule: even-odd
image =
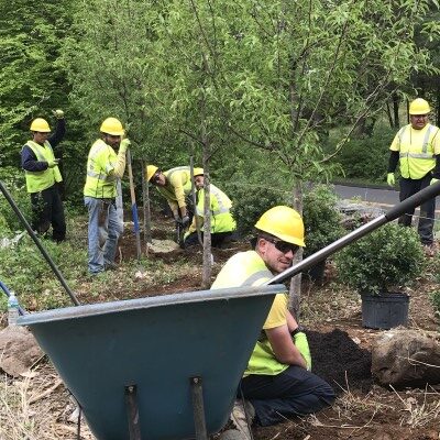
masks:
[[[438,333],[400,329],[385,332],[372,346],[372,373],[382,385],[439,384]]]

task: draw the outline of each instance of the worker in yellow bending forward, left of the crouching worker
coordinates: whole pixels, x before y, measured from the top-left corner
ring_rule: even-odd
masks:
[[[162,196],[165,197],[173,212],[174,220],[186,228],[190,222],[190,212],[186,196],[191,193],[191,174],[189,166],[162,172],[155,165],[145,169],[146,180],[152,183]]]

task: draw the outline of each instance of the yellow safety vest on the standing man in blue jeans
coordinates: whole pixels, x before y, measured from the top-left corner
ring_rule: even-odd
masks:
[[[118,155],[114,150],[98,139],[91,145],[87,158],[87,178],[84,195],[97,199],[110,199],[117,196],[117,177],[114,169]]]

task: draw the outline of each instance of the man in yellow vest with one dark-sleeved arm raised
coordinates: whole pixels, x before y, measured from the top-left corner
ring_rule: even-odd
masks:
[[[31,123],[32,140],[21,150],[26,189],[31,195],[32,229],[44,234],[52,224],[52,238],[61,242],[66,238],[66,220],[57,184],[63,180],[53,148],[62,142],[66,132],[63,110],[55,110],[55,133],[43,118]]]

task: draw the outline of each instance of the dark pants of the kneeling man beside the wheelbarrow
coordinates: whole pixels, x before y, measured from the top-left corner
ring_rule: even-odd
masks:
[[[326,381],[297,365],[276,376],[243,377],[241,391],[255,408],[261,426],[275,425],[288,416],[317,413],[334,400],[334,392]]]

